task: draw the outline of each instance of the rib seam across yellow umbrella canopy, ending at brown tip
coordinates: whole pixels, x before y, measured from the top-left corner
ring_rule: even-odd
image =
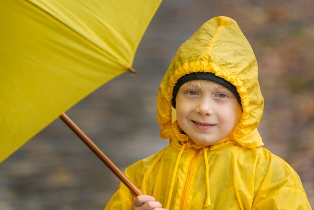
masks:
[[[70,31],[74,32],[74,34],[79,37],[81,40],[83,40],[84,42],[86,42],[87,44],[89,44],[91,47],[93,47],[94,49],[96,49],[98,52],[100,52],[102,55],[104,55],[105,57],[107,57],[108,59],[110,59],[111,61],[121,65],[123,68],[125,68],[126,70],[130,71],[131,73],[135,73],[133,72],[133,68],[131,66],[127,66],[124,64],[121,64],[116,58],[110,56],[109,54],[105,53],[101,48],[99,48],[95,43],[89,41],[86,37],[84,37],[82,34],[80,34],[79,32],[77,32],[76,30],[74,30],[73,28],[71,28],[69,25],[65,24],[64,22],[62,22],[60,19],[58,19],[57,17],[53,16],[52,14],[50,14],[48,11],[44,10],[43,8],[39,7],[38,5],[36,5],[35,3],[31,2],[30,0],[24,0],[26,3],[29,3],[30,5],[32,5],[33,7],[41,10],[42,12],[44,12],[45,14],[49,15],[51,18],[53,18],[54,20],[58,21],[60,24],[62,24],[63,26],[65,26],[67,29],[69,29]]]

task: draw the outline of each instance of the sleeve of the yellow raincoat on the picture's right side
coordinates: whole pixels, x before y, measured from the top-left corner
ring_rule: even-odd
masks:
[[[254,200],[257,209],[311,209],[299,176],[275,155]]]

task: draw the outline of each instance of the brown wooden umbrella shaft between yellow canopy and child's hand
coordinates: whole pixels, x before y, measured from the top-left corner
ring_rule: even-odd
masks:
[[[142,192],[122,173],[122,171],[97,147],[97,145],[65,114],[59,117],[95,155],[125,184],[134,197]]]

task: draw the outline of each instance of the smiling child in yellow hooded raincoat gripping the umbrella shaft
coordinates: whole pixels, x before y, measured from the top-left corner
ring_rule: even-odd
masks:
[[[209,20],[159,88],[169,146],[125,171],[145,195],[120,184],[105,209],[311,209],[296,172],[262,148],[262,112],[251,46],[234,20]]]

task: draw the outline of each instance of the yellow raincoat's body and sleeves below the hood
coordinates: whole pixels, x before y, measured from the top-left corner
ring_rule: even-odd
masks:
[[[165,207],[180,149],[171,144],[162,151],[162,157],[153,167],[152,163],[160,157],[161,152],[128,167],[125,174],[142,192],[154,196]],[[191,169],[193,176],[184,197],[189,166],[197,150],[199,154]],[[211,199],[209,209],[311,209],[299,176],[268,150],[261,147],[248,149],[233,143],[215,150],[207,148],[207,152]],[[144,183],[143,177],[148,177]],[[205,209],[206,199],[203,149],[185,150],[177,170],[169,209]],[[130,209],[128,203],[132,201],[129,190],[120,184],[118,192],[112,196],[105,209]]]

